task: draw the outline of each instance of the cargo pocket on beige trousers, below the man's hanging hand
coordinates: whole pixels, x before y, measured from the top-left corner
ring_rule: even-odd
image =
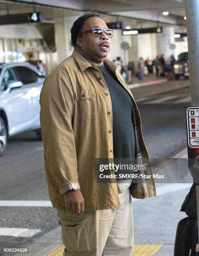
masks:
[[[87,220],[60,220],[62,224],[62,241],[67,251],[90,251],[90,238]]]

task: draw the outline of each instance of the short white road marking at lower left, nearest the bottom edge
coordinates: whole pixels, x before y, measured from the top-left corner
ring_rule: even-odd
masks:
[[[31,237],[40,232],[40,229],[0,228],[0,236]]]

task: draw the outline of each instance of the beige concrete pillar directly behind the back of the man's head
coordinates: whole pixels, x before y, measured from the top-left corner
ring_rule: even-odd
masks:
[[[80,14],[81,15],[81,14]],[[79,16],[55,18],[55,45],[57,64],[72,54],[74,48],[70,45],[70,29]]]

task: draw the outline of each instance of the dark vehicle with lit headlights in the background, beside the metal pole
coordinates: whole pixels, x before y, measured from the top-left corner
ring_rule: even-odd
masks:
[[[178,55],[178,61],[174,64],[174,76],[178,80],[181,76],[189,77],[189,58],[188,52],[182,52]]]

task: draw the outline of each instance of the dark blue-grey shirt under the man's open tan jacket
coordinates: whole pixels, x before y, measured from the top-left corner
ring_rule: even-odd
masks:
[[[113,115],[113,156],[114,158],[132,158],[135,154],[133,101],[117,78],[103,64],[98,67],[109,89]]]

